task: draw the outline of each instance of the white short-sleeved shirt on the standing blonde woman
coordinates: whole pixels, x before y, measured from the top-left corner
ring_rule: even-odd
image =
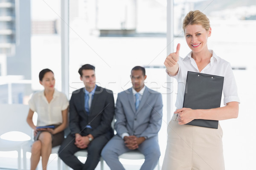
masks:
[[[201,71],[201,73],[224,77],[224,105],[227,105],[228,102],[240,102],[237,94],[236,80],[230,63],[218,57],[212,50],[209,51],[212,53],[210,63]],[[175,103],[177,109],[183,107],[187,72],[199,72],[196,62],[191,57],[191,54],[192,51],[185,58],[179,57],[179,71],[177,75],[173,76],[178,82],[177,99]]]

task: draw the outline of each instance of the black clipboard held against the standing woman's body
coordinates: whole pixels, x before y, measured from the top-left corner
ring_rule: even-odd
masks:
[[[221,106],[224,77],[188,71],[183,108],[212,109]],[[194,119],[186,125],[218,129],[217,120]]]

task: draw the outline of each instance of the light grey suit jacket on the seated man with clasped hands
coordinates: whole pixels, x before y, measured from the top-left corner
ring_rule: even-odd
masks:
[[[137,137],[157,136],[162,124],[162,95],[145,87],[138,110],[135,109],[132,88],[118,94],[115,129],[119,136],[128,133]]]

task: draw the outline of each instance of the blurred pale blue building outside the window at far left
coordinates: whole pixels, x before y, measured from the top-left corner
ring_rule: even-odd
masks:
[[[23,103],[32,93],[30,1],[0,0],[0,103]]]

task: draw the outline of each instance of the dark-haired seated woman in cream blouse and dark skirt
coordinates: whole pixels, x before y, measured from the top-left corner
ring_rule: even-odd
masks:
[[[43,170],[46,170],[52,147],[60,145],[64,140],[69,105],[66,95],[54,88],[55,78],[50,69],[40,71],[39,80],[44,90],[33,94],[29,100],[29,113],[26,119],[35,136],[31,148],[31,170],[36,169],[40,156]],[[34,112],[38,113],[37,126],[32,121]],[[37,128],[47,125],[54,125],[54,128]]]

